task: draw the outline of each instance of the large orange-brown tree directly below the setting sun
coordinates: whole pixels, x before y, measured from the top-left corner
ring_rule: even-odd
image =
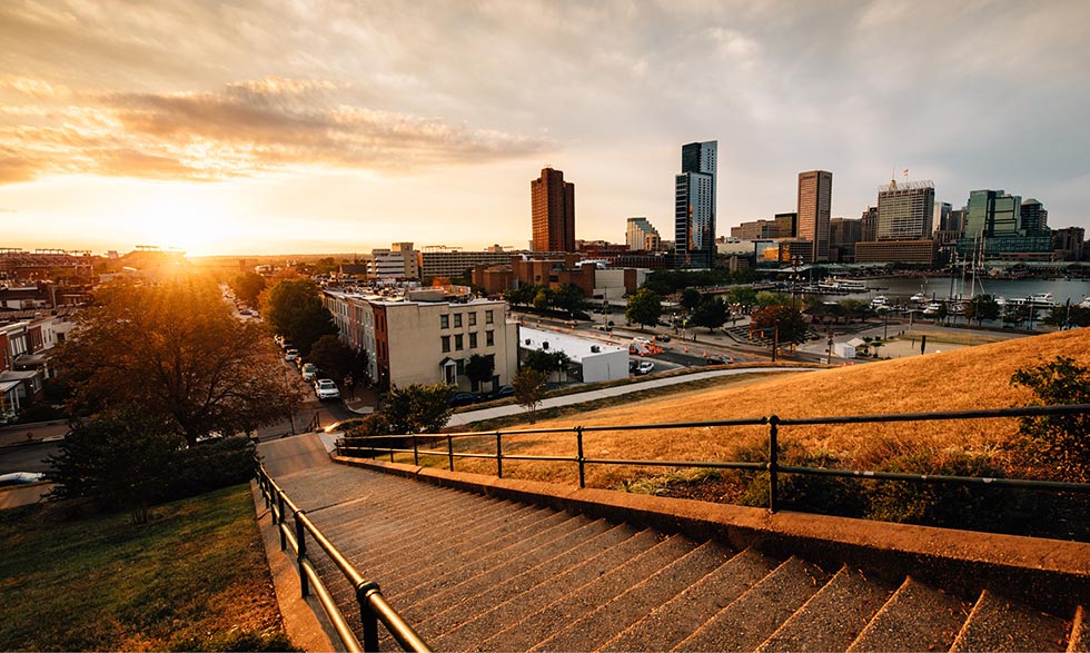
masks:
[[[209,279],[115,283],[95,299],[53,357],[73,413],[161,417],[192,446],[279,422],[301,400],[264,327],[232,318]]]

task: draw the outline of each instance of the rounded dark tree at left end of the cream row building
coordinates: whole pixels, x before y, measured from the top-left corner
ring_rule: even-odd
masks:
[[[321,336],[337,335],[333,314],[321,305],[321,290],[310,279],[280,280],[262,300],[265,320],[304,356],[310,355],[310,347]]]

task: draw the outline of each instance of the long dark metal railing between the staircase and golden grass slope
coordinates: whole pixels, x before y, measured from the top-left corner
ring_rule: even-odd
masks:
[[[578,465],[579,487],[586,487],[586,466],[587,465],[630,465],[630,466],[654,466],[654,467],[706,467],[716,469],[751,469],[769,472],[769,502],[770,512],[776,512],[779,504],[779,475],[780,474],[802,474],[811,476],[840,476],[856,477],[874,481],[902,481],[910,483],[942,483],[960,485],[991,485],[997,487],[1019,487],[1025,489],[1037,489],[1044,492],[1077,492],[1090,494],[1090,484],[1087,483],[1063,483],[1056,481],[1034,481],[1028,478],[989,478],[974,476],[947,476],[934,474],[902,474],[893,472],[856,471],[856,469],[829,469],[823,467],[801,467],[781,465],[779,434],[784,426],[811,426],[811,425],[836,425],[836,424],[876,424],[896,422],[937,422],[950,419],[993,419],[1010,417],[1037,417],[1044,415],[1088,415],[1090,404],[1069,404],[1062,406],[1027,406],[1020,408],[994,408],[982,410],[942,410],[933,413],[900,413],[880,415],[844,415],[833,417],[801,417],[784,418],[777,415],[765,417],[754,417],[747,419],[717,419],[710,422],[674,422],[665,424],[633,424],[633,425],[606,425],[606,426],[572,426],[572,427],[549,427],[549,428],[522,428],[508,431],[484,431],[484,432],[463,432],[443,434],[406,434],[406,435],[370,435],[370,436],[346,436],[337,442],[337,453],[339,455],[353,452],[369,452],[373,455],[388,454],[390,462],[395,459],[395,454],[413,454],[414,464],[419,465],[419,457],[443,456],[448,459],[448,466],[455,469],[457,458],[490,458],[496,461],[496,476],[503,478],[503,464],[505,461],[534,461],[534,462],[571,462]],[[736,427],[736,426],[767,426],[769,427],[769,458],[766,462],[742,462],[742,461],[655,461],[655,459],[624,459],[624,458],[591,458],[583,452],[583,434],[605,431],[650,431],[650,429],[671,429],[671,428],[708,428],[708,427]],[[574,456],[542,456],[542,455],[519,455],[504,453],[503,438],[513,435],[538,435],[538,434],[574,434],[576,436],[577,452]],[[454,441],[460,438],[487,438],[494,437],[496,448],[494,453],[467,453],[455,452]],[[412,448],[378,446],[378,441],[385,441],[387,445],[392,439],[412,439]],[[446,449],[422,448],[420,439],[445,439]],[[364,443],[364,444],[359,444]]]

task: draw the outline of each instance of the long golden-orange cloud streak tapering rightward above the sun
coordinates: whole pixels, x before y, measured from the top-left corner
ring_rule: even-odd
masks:
[[[269,77],[216,92],[77,93],[39,81],[43,100],[0,106],[0,182],[89,172],[220,180],[336,168],[413,172],[542,151],[539,138],[337,101],[346,85]],[[63,99],[66,102],[44,100]]]

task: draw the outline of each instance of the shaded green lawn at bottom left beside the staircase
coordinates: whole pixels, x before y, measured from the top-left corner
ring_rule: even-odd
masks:
[[[290,647],[248,485],[153,509],[0,511],[0,650]]]

